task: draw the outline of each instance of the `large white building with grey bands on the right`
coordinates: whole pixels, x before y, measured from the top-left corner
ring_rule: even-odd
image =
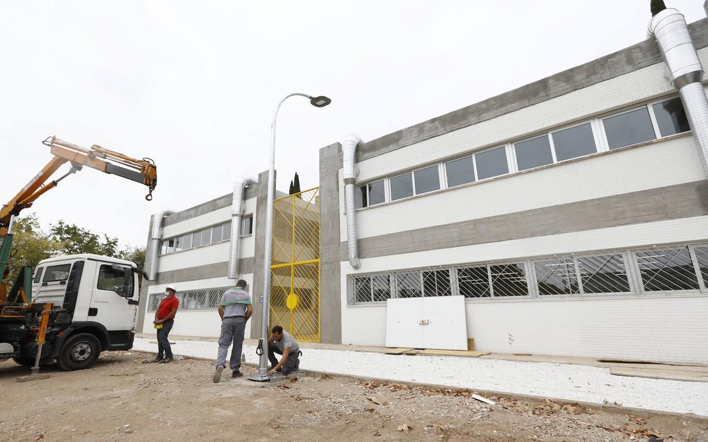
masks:
[[[705,66],[708,20],[689,28]],[[388,298],[462,295],[476,349],[707,363],[708,114],[687,117],[685,72],[652,38],[358,144],[355,258],[353,180],[322,149],[341,342],[384,345]]]

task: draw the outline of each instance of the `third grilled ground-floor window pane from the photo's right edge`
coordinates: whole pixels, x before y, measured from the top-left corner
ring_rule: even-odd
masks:
[[[583,293],[628,293],[629,279],[622,255],[579,257]]]

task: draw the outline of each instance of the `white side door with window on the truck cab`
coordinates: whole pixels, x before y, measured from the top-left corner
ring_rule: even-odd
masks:
[[[89,321],[103,324],[105,330],[132,330],[137,306],[130,303],[135,276],[130,267],[99,262],[93,279]]]

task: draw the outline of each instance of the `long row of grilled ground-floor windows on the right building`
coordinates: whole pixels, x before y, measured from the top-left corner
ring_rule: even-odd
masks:
[[[708,293],[708,244],[354,274],[348,278],[347,301],[354,305],[453,294],[489,299],[658,292]]]

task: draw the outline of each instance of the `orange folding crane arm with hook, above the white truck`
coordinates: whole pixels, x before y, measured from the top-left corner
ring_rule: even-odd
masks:
[[[145,197],[148,201],[152,199],[152,191],[157,185],[157,168],[155,163],[149,158],[138,160],[125,156],[122,153],[103,149],[95,144],[91,149],[85,149],[75,144],[67,143],[57,139],[55,136],[42,141],[42,144],[49,146],[50,153],[54,156],[52,160],[45,165],[44,168],[35,175],[25,187],[15,195],[0,209],[0,235],[4,235],[2,231],[10,223],[12,216],[16,216],[22,211],[32,206],[38,197],[54,187],[57,187],[59,181],[67,178],[76,170],[81,170],[84,165],[101,170],[103,173],[118,175],[128,180],[142,182],[149,188],[149,193]],[[57,171],[64,163],[71,163],[72,168],[57,180],[53,180],[45,185],[45,182]]]

